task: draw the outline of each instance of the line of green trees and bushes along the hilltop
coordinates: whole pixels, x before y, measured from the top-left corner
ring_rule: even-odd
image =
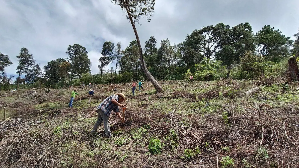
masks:
[[[294,36],[291,40],[270,25],[254,34],[248,22],[234,27],[219,23],[195,29],[179,44],[163,39],[159,48],[155,36],[150,36],[143,47],[144,61],[157,80],[182,80],[191,74],[194,80],[274,77],[287,70],[288,60],[298,52],[299,33]],[[88,52],[79,44],[69,45],[66,58],[48,62],[44,72],[28,49],[22,48],[16,56],[16,76],[7,76],[5,68],[13,62],[0,53],[1,89],[144,80],[137,41],[130,42],[125,50],[121,47],[120,42],[104,42],[98,74],[91,74]],[[115,66],[105,71],[111,62]]]

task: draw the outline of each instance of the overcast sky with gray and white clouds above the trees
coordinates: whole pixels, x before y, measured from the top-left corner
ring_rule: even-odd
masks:
[[[298,0],[156,0],[151,22],[144,19],[137,31],[143,46],[152,35],[159,46],[166,38],[180,43],[203,26],[249,22],[254,32],[271,25],[293,39],[299,28],[298,7]],[[0,0],[0,52],[14,63],[6,68],[8,74],[15,73],[16,55],[23,47],[43,67],[67,57],[68,45],[76,43],[89,52],[95,74],[104,41],[121,42],[125,49],[134,39],[125,14],[111,0]]]

